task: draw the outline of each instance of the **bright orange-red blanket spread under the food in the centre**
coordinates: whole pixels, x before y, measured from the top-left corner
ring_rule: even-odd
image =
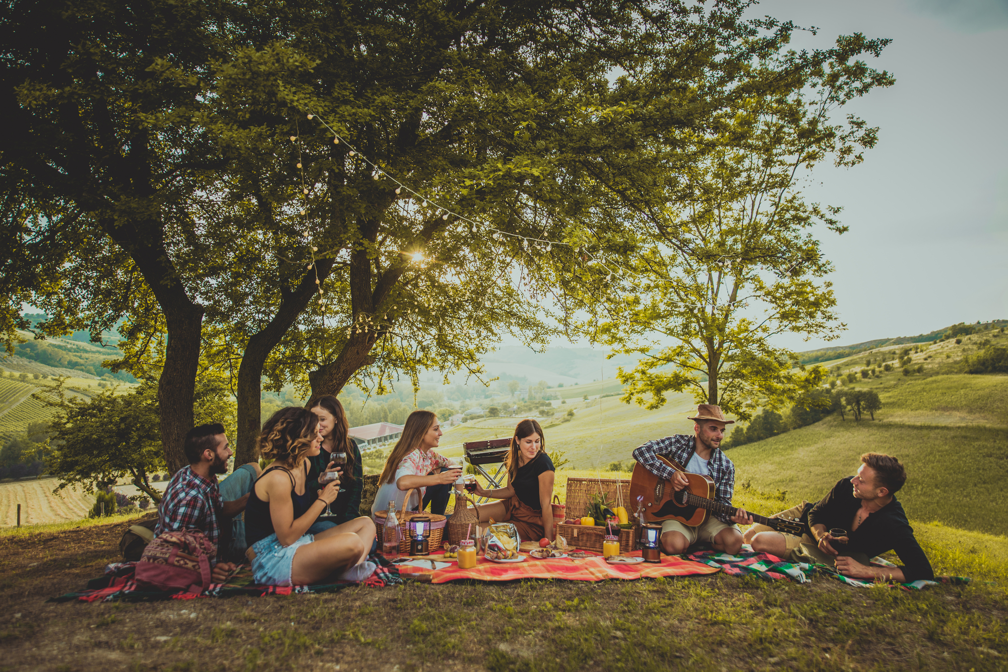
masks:
[[[658,576],[695,576],[713,574],[718,568],[687,560],[678,555],[661,555],[661,563],[610,564],[599,553],[589,553],[585,558],[537,559],[528,556],[523,562],[498,563],[477,558],[472,569],[460,569],[458,563],[430,572],[431,583],[476,579],[483,581],[512,581],[522,578],[560,578],[571,581],[601,581],[609,578],[656,578]],[[640,557],[640,551],[624,553]]]

